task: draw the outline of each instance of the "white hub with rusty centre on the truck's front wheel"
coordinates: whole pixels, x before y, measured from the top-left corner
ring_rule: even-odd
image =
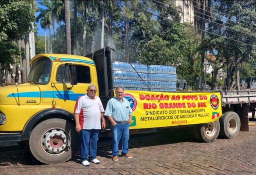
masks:
[[[59,154],[67,148],[68,137],[61,129],[48,130],[42,137],[41,146],[50,154]]]

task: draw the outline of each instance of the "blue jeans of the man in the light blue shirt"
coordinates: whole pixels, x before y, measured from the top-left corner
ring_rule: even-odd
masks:
[[[112,133],[112,156],[118,156],[119,148],[118,144],[122,138],[122,155],[128,153],[128,141],[129,141],[129,123],[116,123],[116,126],[111,126]]]

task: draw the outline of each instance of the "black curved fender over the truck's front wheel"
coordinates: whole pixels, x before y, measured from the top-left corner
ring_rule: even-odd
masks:
[[[36,124],[46,119],[53,118],[50,115],[55,115],[54,118],[62,118],[69,121],[74,120],[74,114],[63,109],[56,108],[55,110],[53,110],[52,108],[48,108],[48,109],[42,110],[37,114],[33,115],[32,117],[30,117],[30,119],[27,121],[27,123],[25,124],[22,130],[21,140],[22,141],[28,140],[31,130],[36,126]]]

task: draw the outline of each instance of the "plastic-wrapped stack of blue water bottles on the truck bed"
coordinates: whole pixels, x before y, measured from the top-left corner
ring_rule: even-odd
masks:
[[[176,68],[162,65],[112,62],[114,88],[123,86],[126,90],[176,91]],[[149,88],[148,88],[149,87]]]

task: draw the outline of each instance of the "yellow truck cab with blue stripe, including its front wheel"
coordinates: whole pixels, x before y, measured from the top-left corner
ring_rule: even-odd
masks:
[[[96,65],[66,54],[39,54],[30,63],[28,83],[1,87],[0,141],[28,141],[44,163],[67,161],[74,154],[72,144],[78,144],[72,137],[74,106],[88,85],[98,89]]]

